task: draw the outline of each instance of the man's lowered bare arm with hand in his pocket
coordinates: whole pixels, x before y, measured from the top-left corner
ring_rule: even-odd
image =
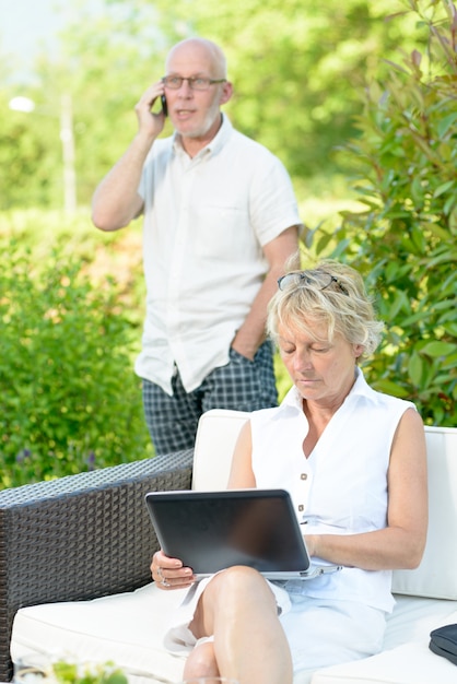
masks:
[[[232,347],[238,354],[253,359],[263,342],[268,303],[278,290],[278,278],[284,274],[285,262],[297,251],[298,226],[290,226],[265,245],[263,253],[270,268],[253,302],[249,314],[232,341]]]

